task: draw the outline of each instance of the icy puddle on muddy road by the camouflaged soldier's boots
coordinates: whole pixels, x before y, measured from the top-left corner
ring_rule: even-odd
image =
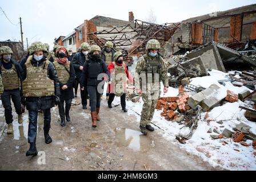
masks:
[[[140,131],[117,128],[115,138],[118,139],[119,147],[129,147],[134,151],[146,152],[154,147],[154,141]]]

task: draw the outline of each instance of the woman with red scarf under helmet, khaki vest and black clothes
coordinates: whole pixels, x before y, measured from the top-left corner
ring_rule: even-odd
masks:
[[[67,59],[67,49],[65,47],[59,47],[56,55],[57,59],[54,60],[53,65],[61,87],[61,102],[58,104],[59,117],[61,117],[61,126],[65,126],[65,117],[66,121],[70,122],[69,110],[74,98],[73,82],[75,80],[75,71],[73,64]],[[66,103],[65,109],[64,101]]]

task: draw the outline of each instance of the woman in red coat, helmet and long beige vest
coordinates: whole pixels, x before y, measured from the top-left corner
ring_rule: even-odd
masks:
[[[123,62],[122,52],[116,52],[113,57],[113,62],[109,65],[111,85],[109,85],[109,100],[107,105],[112,108],[112,102],[115,96],[121,98],[122,110],[126,113],[126,77],[130,82],[133,82],[130,73],[127,70],[126,64]]]

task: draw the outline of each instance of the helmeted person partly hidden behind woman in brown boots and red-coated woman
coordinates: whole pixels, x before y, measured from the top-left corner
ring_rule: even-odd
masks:
[[[110,41],[107,41],[105,43],[105,48],[102,49],[101,51],[101,59],[105,61],[107,67],[112,63],[113,57],[114,57],[114,44]],[[106,99],[109,100],[109,90],[107,89],[106,92]]]

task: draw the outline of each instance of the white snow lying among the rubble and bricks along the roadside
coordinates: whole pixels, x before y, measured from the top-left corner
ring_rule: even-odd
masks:
[[[222,94],[226,95],[226,90],[229,89],[234,93],[240,93],[243,90],[250,90],[245,86],[237,87],[233,86],[231,82],[226,82],[226,85],[220,85],[218,80],[225,80],[228,75],[220,71],[210,71],[210,76],[192,78],[191,84],[195,86],[202,86],[208,88],[211,84],[217,84],[222,88]],[[163,86],[162,86],[163,87]],[[250,90],[252,92],[252,90]],[[193,94],[189,92],[189,94]],[[171,97],[177,96],[178,89],[169,87],[168,93],[161,94],[161,97]],[[119,97],[115,98],[113,104],[119,104]],[[127,101],[127,109],[129,109],[128,114],[137,115],[137,122],[140,120],[143,101],[142,99],[134,104],[131,101]],[[243,102],[238,101],[235,103],[229,103],[222,106],[215,107],[209,112],[209,119],[214,119],[209,125],[203,120],[206,113],[201,114],[201,120],[198,121],[198,127],[194,131],[193,137],[186,141],[186,144],[181,144],[175,139],[175,135],[181,133],[186,133],[187,128],[181,127],[177,122],[166,121],[165,118],[161,117],[160,113],[162,111],[155,110],[153,123],[161,128],[157,130],[164,138],[170,140],[174,144],[178,144],[181,148],[189,152],[190,154],[201,156],[203,160],[209,162],[214,167],[220,167],[229,170],[256,170],[256,156],[254,156],[252,146],[245,147],[240,143],[235,143],[231,138],[222,139],[212,139],[210,135],[218,135],[216,133],[207,133],[211,128],[215,128],[222,133],[224,129],[229,129],[233,131],[233,127],[240,122],[245,123],[251,127],[251,132],[256,134],[256,123],[248,121],[245,116],[245,110],[239,109],[239,105],[243,105]],[[121,106],[120,106],[121,107]],[[220,125],[217,121],[223,121]],[[155,127],[157,129],[157,127]],[[252,140],[247,140],[246,143],[251,144]]]

